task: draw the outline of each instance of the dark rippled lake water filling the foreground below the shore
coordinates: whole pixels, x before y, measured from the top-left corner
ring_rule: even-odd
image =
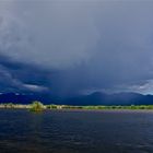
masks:
[[[153,111],[0,110],[0,153],[153,153]]]

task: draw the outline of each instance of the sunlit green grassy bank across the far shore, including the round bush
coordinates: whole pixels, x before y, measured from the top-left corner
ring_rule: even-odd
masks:
[[[40,102],[33,102],[28,105],[22,104],[0,104],[0,108],[16,108],[16,109],[30,109],[33,111],[42,111],[44,109],[153,109],[153,105],[113,105],[113,106],[71,106],[71,105],[44,105]]]

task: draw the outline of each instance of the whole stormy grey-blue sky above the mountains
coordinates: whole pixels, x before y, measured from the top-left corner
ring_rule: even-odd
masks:
[[[1,0],[0,92],[153,94],[153,1]]]

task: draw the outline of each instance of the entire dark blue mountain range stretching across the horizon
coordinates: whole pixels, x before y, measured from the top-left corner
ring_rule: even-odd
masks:
[[[89,95],[76,95],[60,98],[50,94],[0,94],[0,103],[28,104],[32,101],[40,101],[44,104],[66,105],[153,105],[153,95],[138,93],[104,94],[95,92]]]

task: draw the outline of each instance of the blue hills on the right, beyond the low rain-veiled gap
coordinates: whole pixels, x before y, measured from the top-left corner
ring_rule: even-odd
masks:
[[[93,93],[66,99],[67,104],[73,105],[141,105],[153,104],[153,95],[141,95],[138,93],[104,94]]]

